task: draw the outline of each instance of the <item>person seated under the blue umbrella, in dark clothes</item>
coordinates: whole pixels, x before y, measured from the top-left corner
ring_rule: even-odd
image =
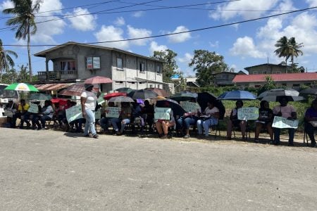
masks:
[[[242,133],[242,140],[245,140],[245,132],[247,131],[247,121],[245,120],[238,120],[237,119],[237,110],[238,108],[242,108],[243,102],[237,101],[235,102],[235,108],[232,109],[230,113],[230,120],[228,122],[228,128],[227,128],[227,139],[231,140],[231,134],[233,127],[240,127],[241,133]]]

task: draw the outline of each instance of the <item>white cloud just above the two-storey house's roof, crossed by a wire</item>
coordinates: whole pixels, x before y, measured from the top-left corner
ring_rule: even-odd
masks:
[[[101,29],[94,33],[97,41],[115,41],[123,38],[123,30],[113,25],[102,25]],[[102,46],[113,47],[118,49],[128,49],[129,41],[115,41],[101,44]]]

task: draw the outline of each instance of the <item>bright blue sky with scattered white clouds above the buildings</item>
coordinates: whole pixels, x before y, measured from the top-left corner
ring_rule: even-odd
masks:
[[[35,1],[35,0],[33,0]],[[0,1],[1,11],[12,8],[9,0]],[[44,0],[36,14],[37,33],[32,35],[32,54],[67,41],[101,42],[143,56],[153,51],[170,49],[178,54],[178,70],[193,76],[188,66],[194,50],[215,51],[235,72],[263,63],[281,63],[275,56],[275,43],[280,37],[295,37],[303,43],[303,56],[294,63],[307,72],[317,71],[317,8],[287,15],[263,18],[317,6],[317,0]],[[15,39],[8,29],[9,15],[0,15],[0,39],[5,49],[18,53],[15,67],[27,64],[26,41]],[[263,18],[261,20],[253,20]],[[243,22],[245,23],[238,23]],[[42,23],[41,23],[42,22]],[[237,23],[237,24],[235,24]],[[222,26],[225,25],[225,26]],[[199,30],[209,28],[206,30]],[[190,32],[194,30],[193,32]],[[197,30],[197,31],[195,31]],[[139,37],[134,41],[104,42]],[[102,43],[104,42],[104,43]],[[51,68],[51,67],[50,67]],[[45,71],[45,58],[32,56],[33,72]]]

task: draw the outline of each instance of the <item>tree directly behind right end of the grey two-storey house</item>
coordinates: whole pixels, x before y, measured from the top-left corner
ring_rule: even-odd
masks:
[[[163,82],[172,82],[175,70],[178,69],[175,57],[178,56],[174,51],[167,49],[165,51],[154,51],[152,58],[163,61]]]

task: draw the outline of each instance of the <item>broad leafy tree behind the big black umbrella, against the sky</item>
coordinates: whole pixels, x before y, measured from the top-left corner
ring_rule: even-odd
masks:
[[[189,67],[194,67],[197,82],[202,86],[213,84],[214,74],[218,72],[233,72],[225,63],[223,56],[216,52],[206,50],[195,50],[194,57],[189,63]]]

